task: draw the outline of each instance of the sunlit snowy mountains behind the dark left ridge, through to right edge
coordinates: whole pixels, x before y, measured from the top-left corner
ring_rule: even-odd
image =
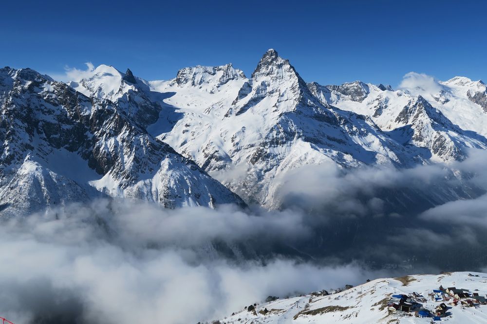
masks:
[[[157,111],[150,108],[157,102],[159,118],[147,127],[152,136],[247,202],[271,208],[281,204],[277,191],[286,174],[305,165],[402,168],[462,160],[468,148],[487,148],[487,131],[457,121],[458,113],[431,104],[425,94],[362,82],[306,84],[275,50],[262,56],[250,78],[227,64],[183,68],[169,81],[134,78],[137,83],[130,84],[123,73],[106,69],[101,66],[72,86],[124,107],[142,102]],[[469,87],[462,90],[464,97],[487,118],[473,102],[483,102],[482,84],[461,86]],[[463,98],[453,90],[447,95],[450,102]],[[134,115],[137,108],[127,113]],[[141,127],[153,118],[148,114]]]

